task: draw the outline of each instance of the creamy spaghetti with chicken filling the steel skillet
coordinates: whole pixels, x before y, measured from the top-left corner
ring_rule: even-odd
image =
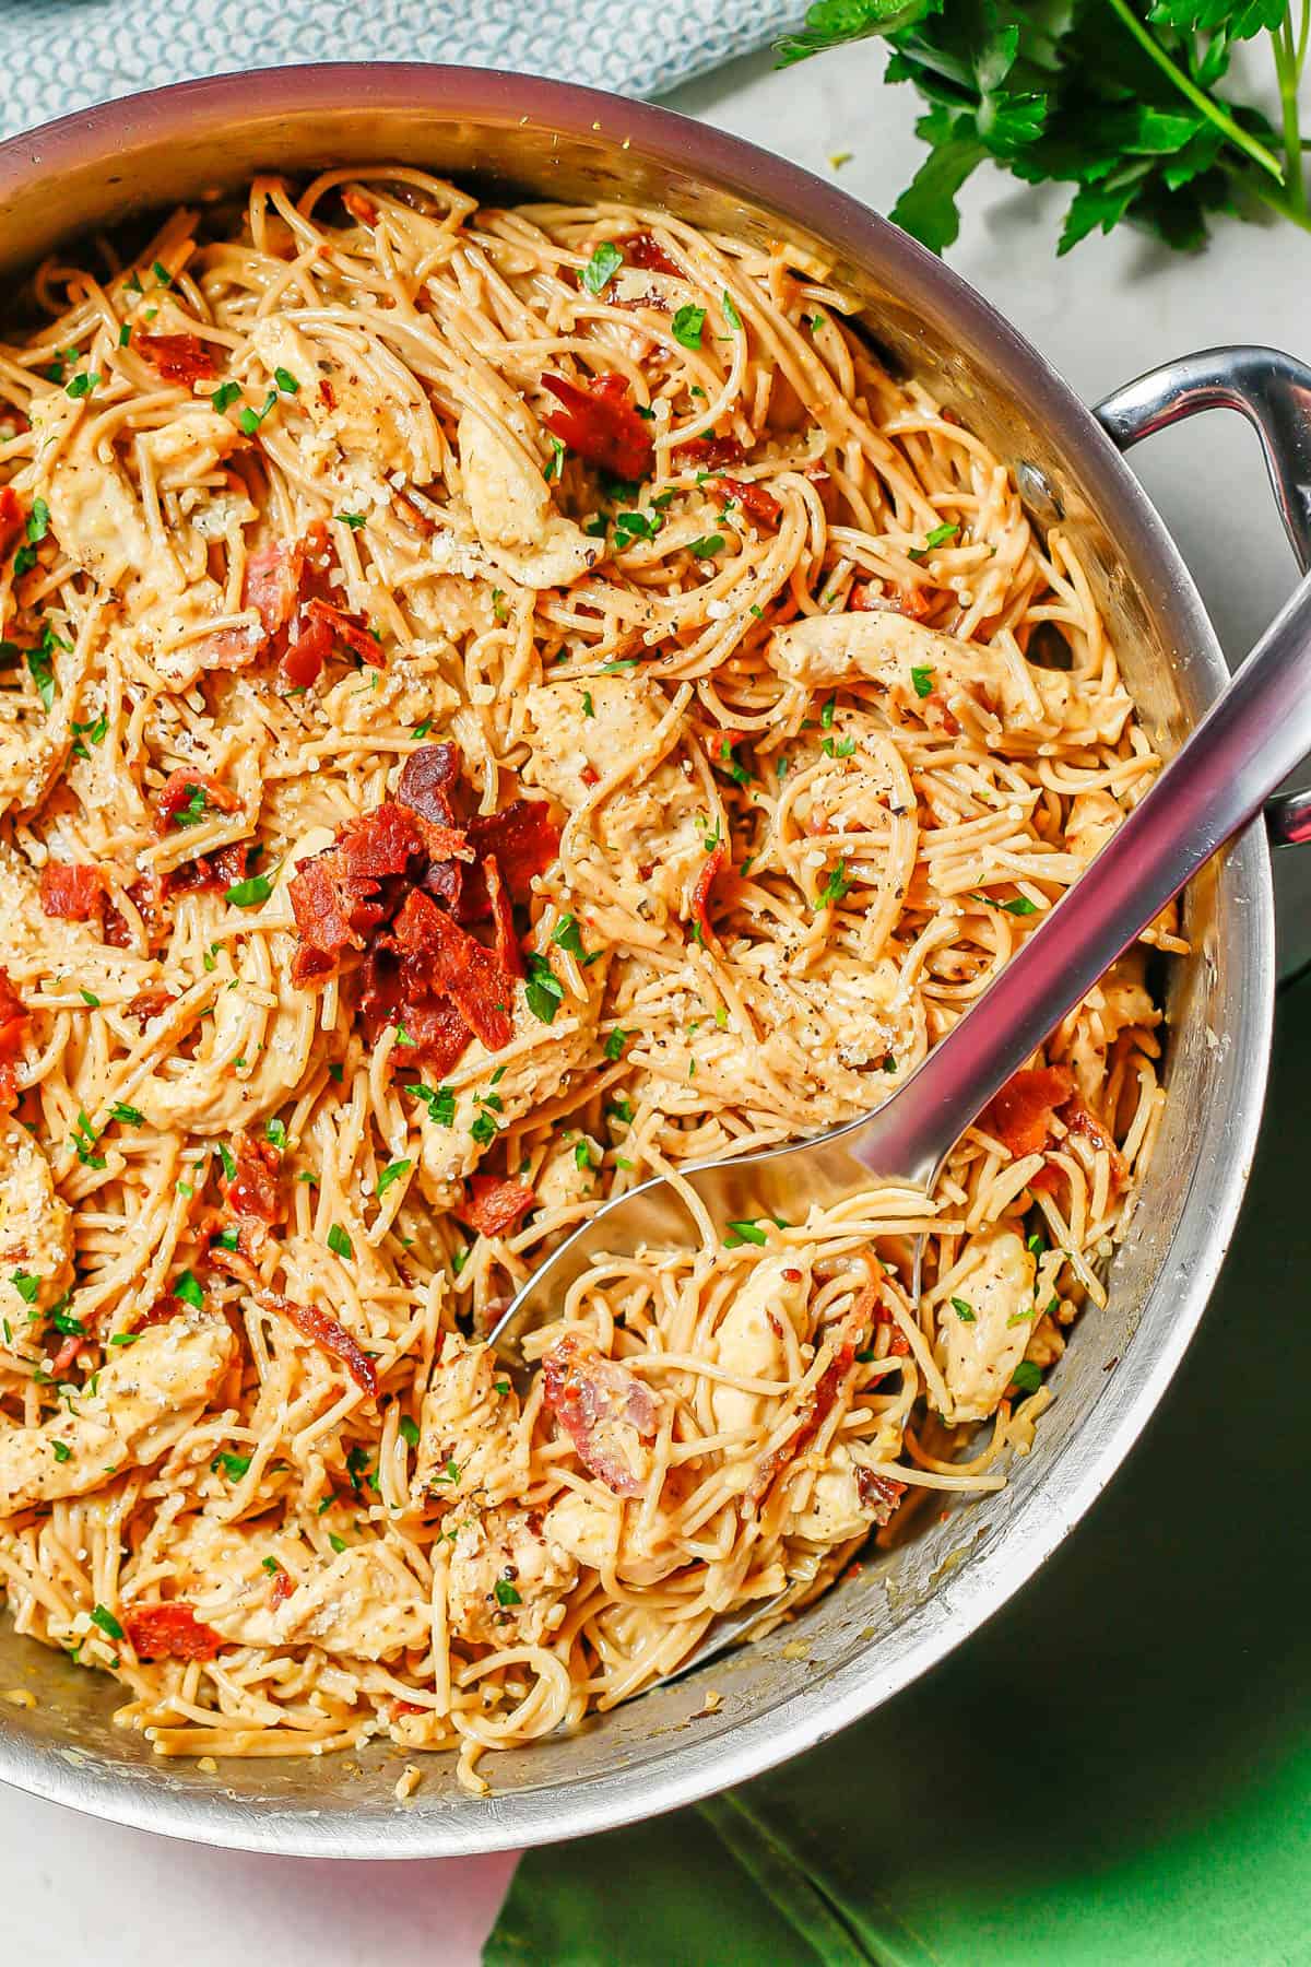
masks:
[[[332,171],[35,303],[0,348],[0,1580],[161,1755],[381,1735],[480,1788],[1028,1450],[1158,1123],[1142,950],[932,1200],[605,1261],[523,1397],[478,1334],[603,1196],[894,1092],[1158,759],[1069,539],[784,244]],[[601,376],[641,484],[580,454]],[[560,828],[513,1029],[440,1074],[362,1011],[389,930],[305,978],[295,891],[436,744],[460,842],[515,799]],[[480,1166],[531,1190],[482,1233]]]

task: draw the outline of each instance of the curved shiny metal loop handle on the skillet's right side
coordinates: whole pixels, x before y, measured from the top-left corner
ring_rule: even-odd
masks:
[[[1311,566],[1311,368],[1278,348],[1203,348],[1124,384],[1093,409],[1128,450],[1201,409],[1236,409],[1256,431],[1283,531],[1305,574]],[[1266,801],[1274,846],[1311,840],[1311,791]]]

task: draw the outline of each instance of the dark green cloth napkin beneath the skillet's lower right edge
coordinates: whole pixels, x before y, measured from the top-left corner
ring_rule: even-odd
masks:
[[[1311,1961],[1311,984],[1225,1277],[1044,1572],[869,1721],[525,1857],[487,1967]]]

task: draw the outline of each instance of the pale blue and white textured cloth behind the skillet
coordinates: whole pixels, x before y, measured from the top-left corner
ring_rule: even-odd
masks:
[[[806,0],[0,0],[0,134],[197,75],[456,61],[653,96],[763,47]]]

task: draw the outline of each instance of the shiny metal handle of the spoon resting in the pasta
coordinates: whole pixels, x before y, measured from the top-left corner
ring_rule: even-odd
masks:
[[[843,1147],[928,1180],[1012,1072],[1311,751],[1311,576],[1087,873]]]

